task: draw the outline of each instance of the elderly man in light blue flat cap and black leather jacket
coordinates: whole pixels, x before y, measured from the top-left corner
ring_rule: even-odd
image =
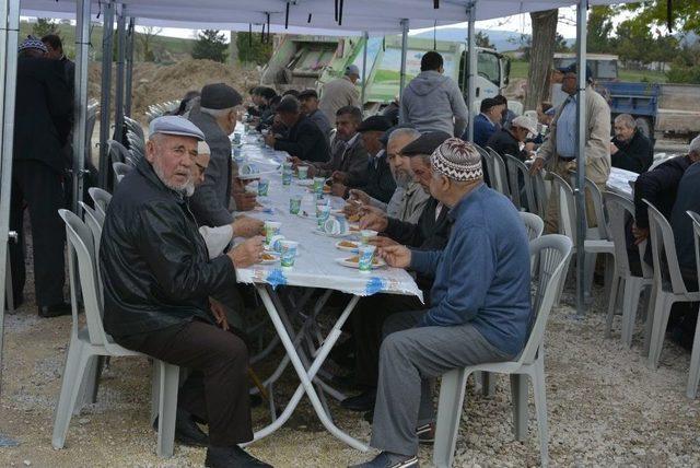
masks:
[[[208,467],[268,466],[238,447],[253,440],[248,352],[210,306],[235,289],[235,268],[259,261],[262,237],[209,259],[187,199],[203,139],[183,117],[154,119],[145,159],[117,186],[100,250],[104,327],[127,349],[192,371],[178,390],[176,441],[208,446]]]

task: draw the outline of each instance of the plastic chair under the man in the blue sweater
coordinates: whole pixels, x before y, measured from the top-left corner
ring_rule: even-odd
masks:
[[[518,378],[521,375],[529,376],[535,395],[541,464],[542,466],[548,464],[549,435],[545,387],[545,328],[560,283],[564,279],[571,249],[571,239],[559,234],[542,236],[533,241],[529,245],[530,261],[534,261],[537,266],[535,270],[539,273],[539,281],[533,301],[533,311],[535,312],[533,327],[525,348],[516,361],[478,364],[466,368],[456,368],[443,375],[440,386],[435,445],[433,448],[433,463],[435,466],[452,466],[467,377],[476,371],[495,372],[511,376],[514,420],[517,419],[522,405],[527,408],[527,400],[522,401],[521,398],[517,398],[517,396],[522,395],[520,394],[522,388],[520,388]],[[527,395],[527,393],[524,394]]]

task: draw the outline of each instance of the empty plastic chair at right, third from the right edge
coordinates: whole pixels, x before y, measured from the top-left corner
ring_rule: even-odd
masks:
[[[652,270],[643,260],[646,243],[640,244],[639,258],[642,276],[632,274],[627,253],[627,220],[634,219],[634,204],[627,198],[606,191],[603,194],[605,207],[608,210],[610,239],[615,248],[615,271],[610,281],[610,302],[605,327],[606,338],[610,337],[615,308],[618,303],[618,292],[622,289],[622,342],[628,348],[632,346],[632,334],[637,321],[637,309],[642,291],[652,285]]]

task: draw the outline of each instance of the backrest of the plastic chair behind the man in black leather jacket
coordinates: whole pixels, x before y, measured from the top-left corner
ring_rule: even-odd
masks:
[[[90,342],[93,344],[107,343],[107,337],[102,323],[102,297],[97,286],[97,265],[95,261],[95,245],[90,227],[68,210],[58,210],[58,214],[66,223],[66,236],[68,237],[71,297],[75,297],[78,284],[75,284],[75,265],[73,257],[78,257],[78,277],[80,278],[80,291],[85,306],[85,321]],[[73,331],[78,331],[77,308],[73,309]]]

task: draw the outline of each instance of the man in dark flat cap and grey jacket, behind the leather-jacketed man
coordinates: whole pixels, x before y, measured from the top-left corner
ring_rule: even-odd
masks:
[[[229,136],[236,128],[237,107],[243,102],[233,87],[223,84],[207,84],[201,89],[198,109],[192,109],[189,120],[205,133],[211,150],[211,160],[205,182],[197,187],[190,207],[199,225],[222,226],[233,222],[229,210],[248,211],[255,208],[255,197],[247,194],[234,178],[235,167],[231,159]]]

